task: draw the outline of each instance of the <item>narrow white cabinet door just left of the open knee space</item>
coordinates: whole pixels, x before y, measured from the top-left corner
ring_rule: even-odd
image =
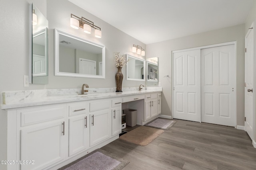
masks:
[[[112,109],[112,136],[122,132],[122,107]]]

